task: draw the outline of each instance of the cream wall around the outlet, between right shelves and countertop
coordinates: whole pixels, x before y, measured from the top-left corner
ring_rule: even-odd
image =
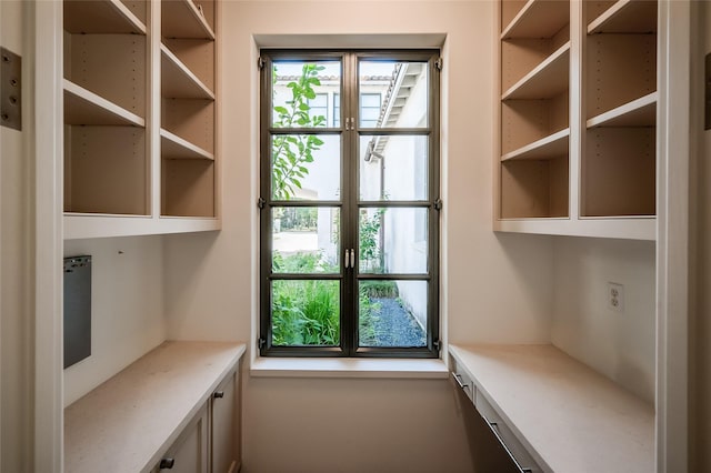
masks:
[[[654,402],[654,243],[557,238],[552,342]],[[624,312],[608,306],[608,282],[624,288]]]

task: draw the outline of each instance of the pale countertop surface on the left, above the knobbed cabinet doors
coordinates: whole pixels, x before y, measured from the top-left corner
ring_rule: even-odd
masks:
[[[164,342],[64,409],[64,471],[150,471],[244,344]]]

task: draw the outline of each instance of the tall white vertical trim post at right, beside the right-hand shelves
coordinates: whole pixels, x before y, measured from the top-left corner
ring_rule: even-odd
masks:
[[[689,164],[692,6],[660,1],[657,472],[689,471]]]

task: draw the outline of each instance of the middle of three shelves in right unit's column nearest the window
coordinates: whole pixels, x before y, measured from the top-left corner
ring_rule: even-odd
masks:
[[[501,100],[550,99],[569,88],[570,41],[507,90]]]

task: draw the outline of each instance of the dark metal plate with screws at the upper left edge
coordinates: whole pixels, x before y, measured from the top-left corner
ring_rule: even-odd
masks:
[[[0,48],[0,125],[22,130],[22,58]]]

